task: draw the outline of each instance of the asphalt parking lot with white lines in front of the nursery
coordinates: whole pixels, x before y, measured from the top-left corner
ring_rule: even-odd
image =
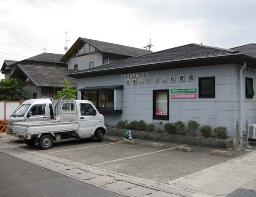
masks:
[[[16,137],[5,134],[0,136],[1,143],[23,150],[33,150],[117,173],[165,183],[246,153],[229,150],[232,157],[212,156],[213,148],[189,145],[187,146],[192,148],[192,152],[180,152],[174,148],[176,145],[184,144],[164,142],[165,148],[152,148],[149,147],[152,141],[136,139],[134,145],[129,145],[123,144],[122,137],[116,137],[117,142],[104,140],[101,143],[91,139],[73,140],[55,143],[49,150],[40,150],[37,145],[28,147]]]

